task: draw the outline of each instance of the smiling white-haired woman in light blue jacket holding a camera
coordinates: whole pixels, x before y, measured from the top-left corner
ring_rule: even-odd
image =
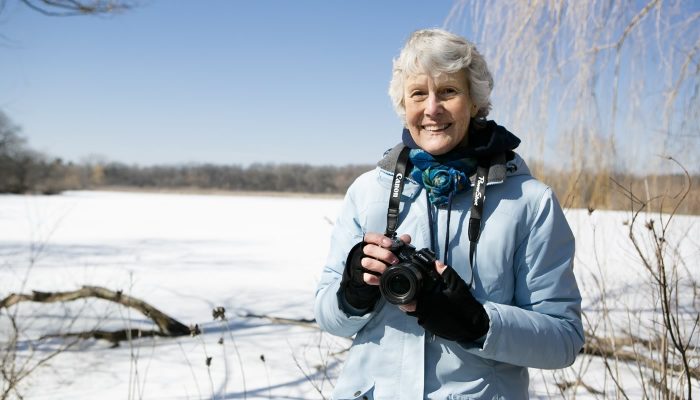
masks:
[[[333,398],[524,399],[527,367],[563,368],[581,349],[573,235],[520,140],[485,119],[492,87],[474,45],[443,30],[415,32],[394,60],[402,143],[349,188],[316,292],[321,328],[356,335]],[[381,281],[406,261],[380,233],[394,231],[437,259],[406,301]]]

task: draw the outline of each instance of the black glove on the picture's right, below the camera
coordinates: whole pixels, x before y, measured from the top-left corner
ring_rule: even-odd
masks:
[[[434,290],[422,293],[416,311],[425,330],[447,340],[470,342],[486,334],[489,317],[484,306],[472,296],[467,284],[449,265]]]

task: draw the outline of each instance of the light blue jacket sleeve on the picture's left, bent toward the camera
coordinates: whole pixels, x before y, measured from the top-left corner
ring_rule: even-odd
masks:
[[[364,232],[353,199],[353,187],[348,190],[340,215],[333,227],[330,251],[316,289],[314,315],[321,329],[336,336],[356,334],[374,315],[358,313],[338,295],[348,252],[362,241]]]

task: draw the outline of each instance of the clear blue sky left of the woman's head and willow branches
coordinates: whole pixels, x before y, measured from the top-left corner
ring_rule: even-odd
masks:
[[[82,161],[366,164],[398,142],[408,35],[451,1],[149,0],[111,17],[0,14],[0,109]]]

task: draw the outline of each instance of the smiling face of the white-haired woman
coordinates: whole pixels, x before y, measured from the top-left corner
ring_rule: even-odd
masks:
[[[467,141],[477,108],[469,96],[467,72],[409,75],[404,83],[406,127],[423,150],[445,154]]]

